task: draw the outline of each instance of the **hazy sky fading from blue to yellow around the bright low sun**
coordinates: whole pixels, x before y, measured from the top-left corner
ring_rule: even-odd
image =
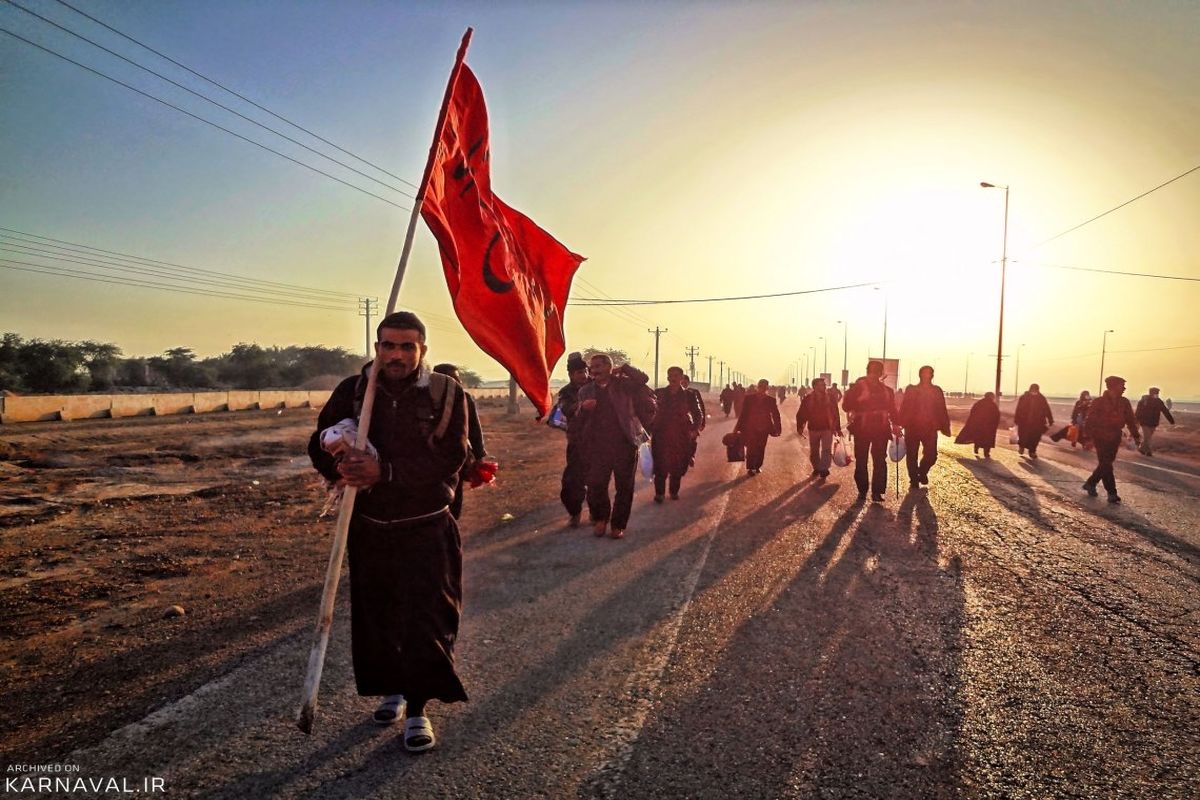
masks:
[[[16,1],[412,191],[55,0]],[[661,326],[664,373],[695,345],[701,379],[712,355],[781,380],[811,348],[824,366],[822,336],[836,374],[848,333],[858,375],[882,350],[886,294],[887,355],[901,359],[901,381],[928,362],[946,389],[968,378],[984,391],[1004,210],[1002,190],[979,187],[990,181],[1012,187],[1004,351],[1020,351],[1022,386],[1096,391],[1112,329],[1105,371],[1126,375],[1132,395],[1156,384],[1200,397],[1200,283],[1061,269],[1200,277],[1200,172],[1045,242],[1200,164],[1200,2],[70,1],[414,182],[458,40],[474,26],[468,62],[488,103],[493,187],[588,258],[572,296],[886,282],[744,302],[572,306],[571,349],[619,347],[649,371],[647,329]],[[0,28],[410,206],[6,1]],[[0,34],[4,228],[385,302],[407,221]],[[0,239],[0,266],[100,272],[12,245]],[[361,349],[353,297],[320,303],[344,309],[0,269],[0,330],[114,342],[126,355],[176,345],[208,355],[238,342]],[[426,313],[432,357],[503,374],[455,320],[424,223],[401,306]]]

